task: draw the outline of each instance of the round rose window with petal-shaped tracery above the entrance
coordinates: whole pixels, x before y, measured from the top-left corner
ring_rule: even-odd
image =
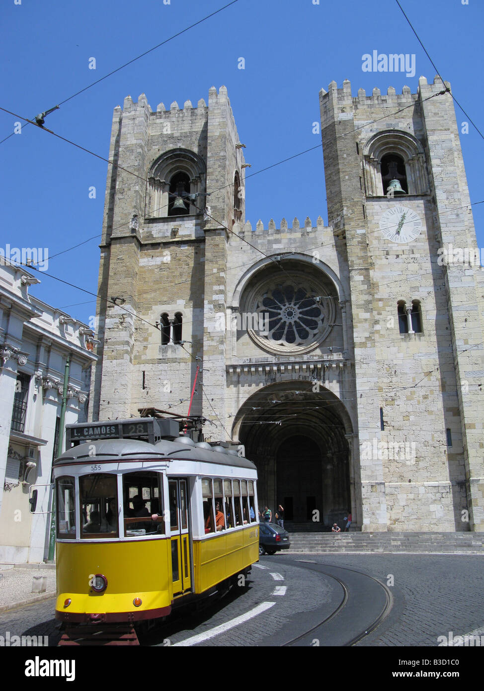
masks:
[[[322,330],[326,314],[321,303],[321,296],[308,286],[286,283],[268,290],[259,299],[256,312],[262,315],[269,341],[304,346],[313,343]]]

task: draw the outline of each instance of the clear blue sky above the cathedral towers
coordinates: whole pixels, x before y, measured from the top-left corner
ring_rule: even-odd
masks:
[[[31,118],[145,50],[221,8],[228,0],[3,0],[1,17],[3,108]],[[314,0],[316,1],[316,0]],[[400,0],[439,72],[484,131],[481,70],[482,0]],[[19,2],[19,0],[17,0]],[[414,53],[416,74],[366,73],[362,55]],[[96,69],[88,68],[95,57]],[[244,57],[245,69],[238,69]],[[146,93],[153,110],[186,100],[208,100],[224,84],[246,144],[250,173],[320,144],[318,92],[331,80],[350,79],[353,94],[374,86],[397,93],[435,70],[395,0],[238,0],[149,55],[62,105],[46,126],[107,158],[113,108]],[[456,108],[457,122],[467,118]],[[0,140],[17,117],[0,111]],[[459,127],[461,129],[461,127]],[[461,145],[472,202],[484,199],[484,140],[469,126]],[[81,321],[95,299],[46,274],[97,291],[100,235],[108,164],[32,125],[0,144],[0,245],[48,247],[48,272],[30,292]],[[89,198],[89,188],[96,198]],[[322,149],[246,183],[246,218],[266,225],[282,217],[327,222]],[[478,246],[484,247],[484,205],[474,207]]]

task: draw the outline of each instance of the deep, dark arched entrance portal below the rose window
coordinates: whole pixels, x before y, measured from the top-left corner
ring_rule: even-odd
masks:
[[[296,388],[297,387],[297,388]],[[233,435],[258,466],[258,500],[273,515],[329,529],[354,519],[354,470],[348,439],[352,428],[342,402],[329,390],[313,392],[311,381],[262,388],[240,408]],[[355,521],[356,522],[356,521]]]

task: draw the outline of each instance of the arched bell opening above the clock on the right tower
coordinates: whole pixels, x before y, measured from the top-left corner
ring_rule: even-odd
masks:
[[[367,197],[385,196],[391,179],[400,182],[403,193],[429,192],[423,146],[408,132],[387,130],[369,139],[363,149],[363,173]]]

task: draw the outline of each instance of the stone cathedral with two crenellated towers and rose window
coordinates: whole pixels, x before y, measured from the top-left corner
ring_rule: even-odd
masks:
[[[320,114],[329,225],[252,227],[224,86],[115,108],[90,419],[186,415],[194,389],[204,438],[243,444],[294,524],[483,531],[484,277],[455,251],[476,235],[449,85],[331,82]]]

